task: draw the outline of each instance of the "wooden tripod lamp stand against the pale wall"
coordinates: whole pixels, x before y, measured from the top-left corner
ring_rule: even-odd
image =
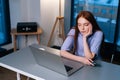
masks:
[[[64,41],[64,39],[65,39],[65,35],[64,35],[64,17],[61,16],[61,0],[59,0],[59,16],[56,17],[56,20],[55,20],[55,23],[53,25],[53,28],[52,28],[52,31],[51,31],[50,38],[49,38],[47,46],[50,46],[50,42],[51,42],[54,30],[55,30],[58,22],[59,22],[59,37],[62,38],[63,41]]]

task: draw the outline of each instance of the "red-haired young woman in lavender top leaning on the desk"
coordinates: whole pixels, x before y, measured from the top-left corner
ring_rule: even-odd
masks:
[[[93,14],[81,11],[76,26],[70,30],[61,47],[61,56],[94,66],[93,59],[98,57],[102,39],[103,32]]]

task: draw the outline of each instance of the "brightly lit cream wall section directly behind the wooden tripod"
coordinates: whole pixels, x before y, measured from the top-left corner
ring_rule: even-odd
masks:
[[[62,1],[62,16],[64,16],[64,0]],[[55,19],[57,16],[59,16],[59,0],[41,0],[40,3],[41,6],[41,25],[44,30],[44,34],[42,37],[43,44],[48,43],[48,39],[50,37],[50,33],[52,31],[52,27],[55,23]],[[58,29],[58,28],[56,28]],[[58,37],[58,30],[55,30],[55,34],[53,35],[53,40],[51,41],[51,44],[55,45],[61,45],[61,39]]]

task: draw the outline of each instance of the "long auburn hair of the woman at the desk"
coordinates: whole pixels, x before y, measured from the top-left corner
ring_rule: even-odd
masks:
[[[77,17],[76,17],[76,25],[75,25],[75,36],[74,36],[74,48],[73,48],[73,53],[75,53],[75,51],[77,50],[77,40],[78,40],[78,34],[79,34],[79,29],[78,29],[78,19],[80,17],[83,17],[85,18],[86,20],[88,20],[91,24],[92,24],[92,27],[93,27],[93,34],[94,32],[100,30],[101,29],[99,28],[93,14],[89,11],[81,11]]]

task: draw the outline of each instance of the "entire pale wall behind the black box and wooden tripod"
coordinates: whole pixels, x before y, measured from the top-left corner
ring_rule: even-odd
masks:
[[[62,16],[64,16],[64,0],[62,1]],[[41,35],[41,44],[47,45],[52,26],[56,17],[59,15],[59,0],[9,0],[11,29],[16,28],[17,22],[35,21],[43,29]],[[58,30],[51,44],[61,45],[61,39],[58,40]],[[29,36],[28,42],[25,42],[24,36],[19,36],[19,48],[26,45],[37,43],[35,36]]]

